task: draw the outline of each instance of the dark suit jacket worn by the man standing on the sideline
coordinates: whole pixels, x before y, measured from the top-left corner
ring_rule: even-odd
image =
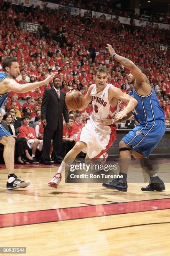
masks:
[[[65,103],[66,93],[60,90],[60,99],[54,88],[44,91],[41,105],[41,118],[46,119],[44,128],[63,131],[63,116],[69,123],[69,114]]]

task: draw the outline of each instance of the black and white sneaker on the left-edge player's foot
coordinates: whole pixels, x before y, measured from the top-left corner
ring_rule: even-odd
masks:
[[[14,175],[14,177],[10,177],[7,181],[8,190],[24,188],[24,187],[28,187],[29,185],[30,185],[29,181],[22,181],[18,179],[16,175]]]

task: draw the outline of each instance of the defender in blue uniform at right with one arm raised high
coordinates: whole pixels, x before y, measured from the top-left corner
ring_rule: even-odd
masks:
[[[127,171],[130,164],[130,150],[135,159],[140,160],[141,167],[150,176],[150,183],[147,187],[142,187],[142,191],[162,191],[165,190],[163,181],[158,177],[148,159],[152,150],[157,146],[165,133],[165,115],[160,106],[155,92],[152,90],[146,77],[146,71],[142,67],[137,67],[129,59],[115,53],[111,45],[107,44],[106,49],[110,55],[124,67],[130,70],[128,76],[129,84],[133,84],[131,96],[138,101],[134,110],[124,118],[119,118],[119,113],[115,116],[115,121],[128,120],[134,115],[140,125],[127,133],[119,143],[120,151],[120,173],[122,179],[114,179],[112,182],[104,182],[103,186],[110,189],[127,191]],[[121,112],[120,112],[121,113]],[[111,120],[100,120],[100,125],[110,125]]]

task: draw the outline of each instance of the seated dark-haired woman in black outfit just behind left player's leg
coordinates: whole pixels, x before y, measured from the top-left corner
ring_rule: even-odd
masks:
[[[26,164],[25,156],[32,161],[32,157],[28,153],[28,145],[26,143],[25,138],[18,138],[19,132],[17,133],[17,136],[15,135],[15,128],[12,124],[13,117],[10,113],[7,113],[3,116],[3,120],[6,121],[8,125],[8,130],[11,135],[15,138],[15,152],[16,155],[18,156],[18,161],[15,163],[17,164]],[[24,158],[22,156],[24,155]]]

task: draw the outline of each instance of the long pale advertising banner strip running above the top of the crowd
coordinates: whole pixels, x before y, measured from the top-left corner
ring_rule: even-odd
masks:
[[[20,0],[11,0],[11,2],[18,5],[20,3]],[[30,5],[37,6],[37,5],[39,5],[40,8],[42,9],[43,1],[40,1],[40,0],[24,0],[24,5],[25,6],[30,6]],[[131,23],[132,23],[131,18],[111,15],[111,14],[107,14],[107,13],[99,13],[99,12],[94,12],[94,11],[90,11],[90,10],[84,10],[84,9],[75,8],[75,7],[69,6],[69,5],[58,5],[58,4],[54,4],[54,3],[48,3],[47,8],[63,10],[65,13],[71,13],[72,15],[79,15],[80,14],[81,16],[84,16],[84,13],[88,12],[89,13],[89,18],[93,17],[94,15],[96,16],[96,18],[99,18],[101,15],[103,15],[106,20],[114,20],[115,18],[118,18],[120,23],[122,23],[122,24],[131,25]],[[133,26],[139,26],[139,27],[144,26],[145,27],[145,26],[147,26],[147,23],[149,23],[147,20],[133,19]],[[169,24],[153,22],[153,25],[154,25],[155,28],[170,30],[170,25]]]

